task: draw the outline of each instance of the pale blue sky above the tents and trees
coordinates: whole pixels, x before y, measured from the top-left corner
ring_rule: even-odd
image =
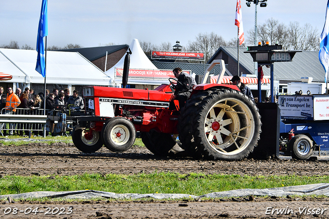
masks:
[[[41,0],[0,0],[0,45],[17,41],[35,48]],[[258,5],[258,24],[273,18],[288,25],[309,23],[322,32],[327,0],[268,0]],[[254,29],[255,7],[241,0],[245,38]],[[48,0],[48,46],[83,47],[131,44],[133,39],[160,45],[176,40],[187,46],[199,33],[236,38],[236,0]]]

